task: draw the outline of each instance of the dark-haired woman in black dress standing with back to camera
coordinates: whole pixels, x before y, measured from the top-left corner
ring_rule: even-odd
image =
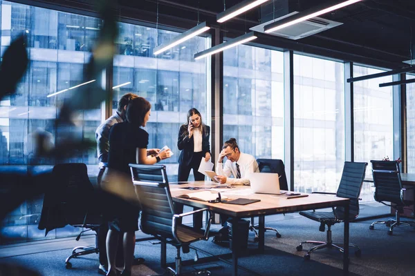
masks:
[[[108,169],[107,177],[103,177],[103,188],[116,193],[109,202],[111,210],[107,213],[109,231],[107,234],[107,275],[118,275],[115,262],[118,246],[118,236],[122,235],[124,251],[124,270],[121,275],[131,275],[134,247],[136,245],[135,231],[138,230],[138,214],[140,209],[134,204],[135,193],[131,181],[130,163],[155,164],[169,158],[170,150],[163,152],[147,152],[149,134],[141,127],[147,124],[150,117],[151,104],[143,97],[132,99],[127,106],[127,121],[115,124],[109,132]],[[158,154],[148,156],[148,154]],[[106,182],[107,184],[105,184]],[[131,193],[132,190],[132,193]]]

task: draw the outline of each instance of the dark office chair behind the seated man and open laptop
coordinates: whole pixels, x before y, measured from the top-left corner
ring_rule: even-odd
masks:
[[[284,162],[281,159],[257,159],[259,172],[277,173],[279,175],[279,188],[281,190],[288,190],[287,177],[285,173]],[[254,242],[258,242],[259,225],[254,223],[254,217],[251,217],[250,230],[255,233]],[[265,230],[275,231],[277,237],[282,237],[277,229],[265,227]]]

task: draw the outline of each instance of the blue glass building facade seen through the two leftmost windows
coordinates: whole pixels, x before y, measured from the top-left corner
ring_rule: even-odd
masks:
[[[55,160],[36,157],[35,139],[38,131],[46,131],[51,145],[59,139],[55,128],[59,106],[76,90],[67,90],[82,83],[90,51],[102,26],[102,21],[67,12],[0,1],[1,55],[20,34],[28,38],[28,71],[17,92],[0,102],[0,166],[53,166]],[[113,92],[113,112],[118,99],[125,92],[134,92],[152,104],[147,124],[149,146],[167,145],[174,155],[168,159],[169,180],[177,175],[177,136],[179,126],[186,122],[190,108],[198,108],[206,124],[208,97],[206,88],[206,60],[194,61],[195,52],[205,50],[208,39],[197,37],[154,57],[153,48],[168,41],[177,32],[119,23],[120,34],[113,61],[113,86],[127,83]],[[98,80],[97,80],[98,81]],[[89,110],[77,117],[80,126],[73,133],[95,139],[101,124],[102,110]],[[96,150],[76,152],[67,162],[87,164],[90,177],[98,174]],[[171,177],[170,177],[171,176]],[[191,177],[192,178],[192,177]],[[21,204],[3,221],[2,235],[20,241],[45,239],[37,229],[43,198],[30,199]],[[46,239],[67,237],[79,233],[79,228],[67,226],[48,233]]]

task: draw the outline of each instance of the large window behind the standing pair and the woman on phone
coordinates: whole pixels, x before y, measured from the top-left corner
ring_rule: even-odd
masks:
[[[173,39],[178,33],[156,28],[120,23],[118,55],[114,58],[113,85],[128,83],[114,90],[113,112],[118,99],[127,92],[145,97],[151,103],[151,118],[147,127],[149,147],[167,145],[174,155],[167,159],[169,181],[177,181],[178,130],[185,124],[187,111],[196,108],[203,122],[210,126],[207,117],[206,62],[195,61],[193,55],[205,50],[208,39],[194,37],[185,43],[153,55],[153,49]],[[190,180],[192,179],[190,176]]]

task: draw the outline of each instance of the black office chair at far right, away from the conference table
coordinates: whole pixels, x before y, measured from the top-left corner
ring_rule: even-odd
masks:
[[[387,234],[392,235],[395,226],[414,226],[414,221],[400,221],[400,213],[403,213],[403,207],[413,205],[414,201],[403,199],[405,188],[402,188],[398,162],[371,160],[371,164],[375,184],[375,200],[382,204],[385,204],[384,201],[390,202],[391,204],[385,205],[394,207],[396,212],[395,219],[375,221],[369,226],[369,229],[374,230],[375,224],[386,224],[389,227]]]

